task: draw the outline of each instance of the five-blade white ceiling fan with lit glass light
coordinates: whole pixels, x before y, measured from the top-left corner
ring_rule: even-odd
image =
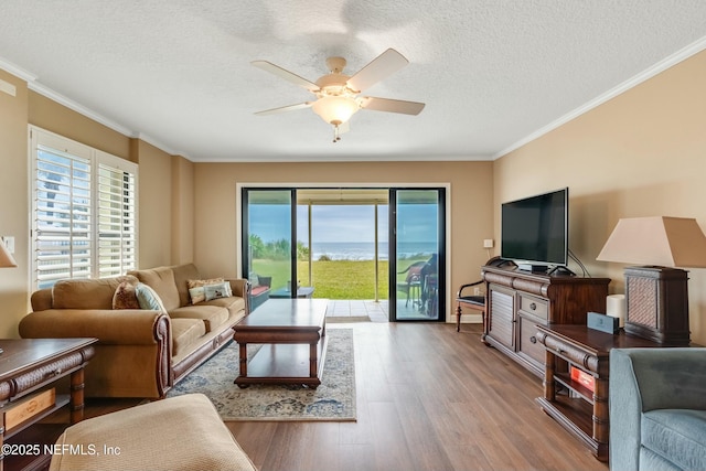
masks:
[[[408,63],[409,61],[404,55],[394,49],[388,49],[356,74],[349,76],[343,74],[345,58],[329,57],[327,60],[329,74],[319,77],[314,83],[270,62],[253,61],[250,64],[254,66],[299,85],[317,96],[314,101],[267,109],[258,111],[256,115],[274,115],[312,108],[321,119],[333,126],[333,142],[341,140],[340,135],[349,130],[349,119],[360,109],[418,115],[424,109],[424,103],[359,96],[361,92],[399,71]]]

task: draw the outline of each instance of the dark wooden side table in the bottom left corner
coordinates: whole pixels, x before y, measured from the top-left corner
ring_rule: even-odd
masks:
[[[0,340],[0,471],[49,467],[66,424],[39,424],[68,406],[71,422],[84,418],[84,366],[97,339]],[[60,379],[69,377],[68,392]]]

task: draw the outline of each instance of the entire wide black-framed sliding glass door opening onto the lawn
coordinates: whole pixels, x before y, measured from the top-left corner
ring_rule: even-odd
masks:
[[[271,298],[368,300],[391,321],[446,320],[445,197],[439,188],[243,189],[252,308]]]

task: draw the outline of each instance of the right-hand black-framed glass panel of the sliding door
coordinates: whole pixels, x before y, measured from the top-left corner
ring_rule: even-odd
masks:
[[[445,192],[391,190],[391,321],[443,321]]]

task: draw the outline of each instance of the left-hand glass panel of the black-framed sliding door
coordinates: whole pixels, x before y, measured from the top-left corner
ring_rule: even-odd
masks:
[[[243,190],[243,274],[252,283],[250,310],[270,298],[291,296],[292,201],[293,190]]]

